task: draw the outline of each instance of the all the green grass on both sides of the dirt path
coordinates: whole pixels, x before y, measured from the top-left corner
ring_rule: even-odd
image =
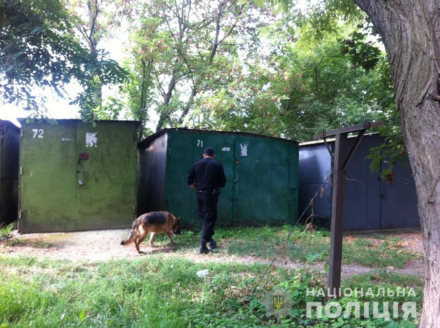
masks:
[[[14,226],[0,229],[3,243],[12,243]],[[279,227],[240,227],[216,229],[223,255],[273,258],[280,249],[290,225]],[[38,260],[33,257],[8,257],[0,254],[0,328],[12,327],[268,327],[273,317],[265,315],[262,300],[265,290],[280,286],[291,292],[296,304],[291,317],[278,327],[314,328],[415,328],[417,322],[401,318],[348,318],[347,320],[306,318],[306,302],[326,302],[326,297],[307,296],[307,288],[326,287],[326,276],[312,270],[272,268],[253,294],[252,290],[266,266],[260,264],[193,263],[182,253],[193,252],[199,230],[185,230],[176,238],[174,256],[160,253],[136,260],[103,263]],[[17,239],[17,241],[19,241]],[[19,241],[34,247],[50,247],[49,239]],[[158,235],[155,243],[168,246],[168,238]],[[344,237],[343,261],[364,266],[396,268],[419,255],[399,246],[396,236],[371,238],[365,235]],[[304,231],[295,227],[281,258],[308,263],[325,261],[330,248],[327,230]],[[196,272],[209,269],[205,279]],[[354,275],[342,288],[413,287],[416,295],[381,298],[400,304],[422,301],[423,280],[417,275],[402,275],[377,269]],[[344,297],[338,302],[372,302],[368,297]],[[362,303],[364,304],[364,303]]]

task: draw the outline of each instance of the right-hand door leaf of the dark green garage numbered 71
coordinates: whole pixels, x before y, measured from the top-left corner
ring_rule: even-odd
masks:
[[[270,139],[236,137],[234,223],[273,225],[289,216],[287,154]]]

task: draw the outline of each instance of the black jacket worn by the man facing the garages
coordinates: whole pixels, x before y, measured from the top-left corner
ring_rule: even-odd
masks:
[[[226,184],[223,165],[209,157],[194,163],[186,180],[190,185],[195,184],[196,190],[204,191],[216,190]]]

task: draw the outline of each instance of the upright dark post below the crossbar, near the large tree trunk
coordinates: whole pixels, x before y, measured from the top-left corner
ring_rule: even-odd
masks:
[[[338,298],[341,287],[342,229],[344,227],[345,149],[347,133],[336,134],[334,148],[333,188],[331,201],[331,240],[329,266],[329,298]]]

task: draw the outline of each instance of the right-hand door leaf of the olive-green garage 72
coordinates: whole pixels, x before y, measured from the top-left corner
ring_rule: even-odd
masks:
[[[135,218],[136,126],[78,123],[76,190],[81,230],[124,228]]]

